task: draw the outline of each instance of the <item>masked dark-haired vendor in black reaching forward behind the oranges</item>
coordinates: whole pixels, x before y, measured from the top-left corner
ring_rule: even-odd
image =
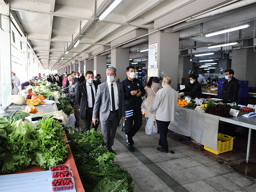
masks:
[[[194,74],[191,74],[189,76],[190,83],[188,86],[185,87],[185,89],[178,91],[179,96],[185,95],[185,96],[191,96],[193,99],[194,98],[202,98],[202,90],[201,90],[201,85],[197,81],[197,77]]]

